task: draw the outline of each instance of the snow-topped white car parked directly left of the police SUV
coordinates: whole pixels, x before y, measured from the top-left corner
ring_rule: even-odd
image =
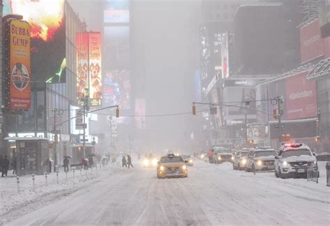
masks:
[[[272,171],[277,153],[271,148],[258,148],[249,151],[246,159],[245,171]]]

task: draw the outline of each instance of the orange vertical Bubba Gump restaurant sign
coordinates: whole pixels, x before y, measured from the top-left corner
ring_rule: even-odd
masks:
[[[31,107],[31,62],[30,62],[30,25],[28,22],[11,19],[9,98],[11,110],[29,110]]]

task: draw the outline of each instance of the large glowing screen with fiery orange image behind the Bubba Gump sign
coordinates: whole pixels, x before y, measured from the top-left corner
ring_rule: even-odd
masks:
[[[32,81],[65,83],[64,4],[65,0],[10,1],[11,13],[31,25]]]

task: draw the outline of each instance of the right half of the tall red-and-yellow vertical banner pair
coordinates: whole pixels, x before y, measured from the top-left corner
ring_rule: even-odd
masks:
[[[88,33],[89,95],[91,106],[102,105],[101,33]]]

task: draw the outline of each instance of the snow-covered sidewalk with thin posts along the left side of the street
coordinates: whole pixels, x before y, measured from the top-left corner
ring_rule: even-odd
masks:
[[[17,178],[13,175],[13,170],[8,172],[8,177],[0,177],[0,225],[4,222],[2,219],[7,213],[16,212],[15,210],[29,204],[37,204],[43,206],[46,202],[58,200],[65,195],[70,195],[75,191],[93,183],[93,180],[100,177],[109,177],[112,173],[116,173],[116,164],[109,163],[104,168],[94,166],[88,170],[70,170],[66,177],[63,168],[58,172],[52,172],[47,175],[47,186],[45,175],[36,175],[34,180],[32,175],[24,175],[19,177],[19,190],[17,188]],[[20,211],[17,211],[17,215]]]

